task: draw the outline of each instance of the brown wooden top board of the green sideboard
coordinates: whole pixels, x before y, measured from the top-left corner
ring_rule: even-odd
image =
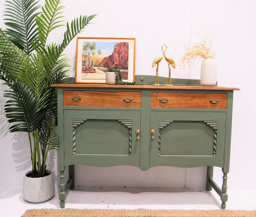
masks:
[[[233,87],[219,87],[219,86],[200,86],[200,85],[173,85],[173,86],[155,86],[155,85],[108,85],[97,83],[65,83],[52,84],[52,87],[62,88],[116,88],[116,89],[153,89],[153,90],[240,90]]]

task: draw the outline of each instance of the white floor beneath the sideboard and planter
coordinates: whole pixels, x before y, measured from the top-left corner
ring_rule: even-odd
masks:
[[[75,188],[68,192],[65,208],[76,209],[220,209],[220,198],[205,189],[185,188]],[[227,209],[256,210],[256,192],[228,190]],[[0,188],[0,216],[20,217],[27,209],[60,209],[58,189],[44,203],[28,203],[22,198],[22,186]]]

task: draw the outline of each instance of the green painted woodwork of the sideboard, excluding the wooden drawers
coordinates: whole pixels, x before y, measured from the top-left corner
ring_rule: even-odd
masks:
[[[143,78],[142,78],[143,77]],[[141,79],[142,78],[142,79]],[[136,82],[154,83],[155,76],[135,76]],[[168,78],[160,78],[168,82]],[[72,78],[69,79],[72,83]],[[199,85],[199,80],[172,79],[177,85]],[[207,166],[206,189],[217,191],[222,208],[227,201],[227,173],[229,171],[233,90],[214,88],[166,88],[150,86],[136,88],[86,85],[86,87],[58,87],[58,133],[60,170],[60,206],[65,206],[68,188],[74,188],[74,165],[107,167],[131,165],[141,170],[155,166]],[[200,86],[199,86],[200,87]],[[132,91],[141,92],[141,107],[85,107],[63,106],[63,90]],[[153,92],[226,93],[227,109],[150,108]],[[99,99],[100,100],[100,99]],[[65,121],[64,121],[65,119]],[[76,126],[76,120],[82,121]],[[128,128],[121,120],[132,122]],[[159,130],[159,121],[171,121]],[[207,125],[217,122],[217,129]],[[65,125],[64,125],[65,122]],[[76,126],[76,127],[75,127]],[[75,130],[74,130],[75,129]],[[150,130],[155,130],[154,139]],[[140,130],[137,139],[136,130]],[[159,134],[160,132],[160,134]],[[217,138],[215,138],[217,136]],[[215,141],[214,141],[215,140]],[[75,149],[74,149],[75,142]],[[214,150],[214,142],[216,144]],[[159,148],[160,146],[160,148]],[[65,154],[64,154],[65,153]],[[225,154],[225,158],[224,158]],[[65,157],[64,157],[65,156]],[[65,167],[69,166],[69,181],[64,182]],[[212,180],[213,166],[222,168],[223,186]]]

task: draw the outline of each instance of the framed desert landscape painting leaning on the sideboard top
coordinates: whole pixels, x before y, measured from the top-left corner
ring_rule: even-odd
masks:
[[[135,38],[77,37],[75,83],[106,83],[111,66],[121,70],[123,81],[134,81]]]

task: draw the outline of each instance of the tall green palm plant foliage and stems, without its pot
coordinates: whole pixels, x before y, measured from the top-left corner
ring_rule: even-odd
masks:
[[[32,177],[45,175],[47,153],[57,149],[57,93],[52,84],[65,83],[68,58],[63,50],[96,16],[80,16],[67,23],[61,44],[47,44],[52,30],[62,25],[60,0],[6,1],[6,30],[0,29],[0,79],[8,85],[4,96],[10,132],[27,132]],[[40,11],[41,9],[41,11]],[[56,121],[56,122],[55,122]]]

